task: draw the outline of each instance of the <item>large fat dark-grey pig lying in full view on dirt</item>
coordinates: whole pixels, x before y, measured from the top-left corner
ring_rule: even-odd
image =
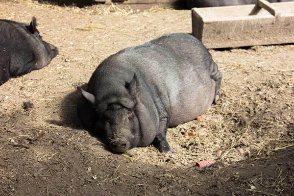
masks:
[[[169,34],[105,59],[82,90],[78,117],[115,152],[150,144],[172,152],[168,127],[194,120],[216,102],[221,78],[200,41]]]

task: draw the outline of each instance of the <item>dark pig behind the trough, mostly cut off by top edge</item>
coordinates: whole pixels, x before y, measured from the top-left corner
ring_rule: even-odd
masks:
[[[286,2],[293,0],[268,0],[270,3]],[[257,0],[186,0],[186,8],[192,9],[194,7],[220,7],[233,5],[247,5],[256,4]]]

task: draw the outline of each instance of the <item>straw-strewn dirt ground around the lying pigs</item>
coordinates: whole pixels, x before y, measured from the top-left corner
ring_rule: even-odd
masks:
[[[192,32],[191,12],[0,1],[0,18],[29,23],[60,54],[0,86],[0,195],[293,196],[294,45],[210,50],[221,100],[171,128],[174,154],[154,147],[113,154],[77,119],[78,90],[123,48]],[[24,102],[32,107],[24,108]],[[185,139],[184,132],[196,132]],[[212,167],[196,162],[214,159]]]

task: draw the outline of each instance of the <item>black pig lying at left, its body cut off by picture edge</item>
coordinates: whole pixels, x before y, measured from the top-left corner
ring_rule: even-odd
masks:
[[[44,42],[33,17],[30,25],[0,20],[0,85],[22,74],[47,66],[58,49]]]

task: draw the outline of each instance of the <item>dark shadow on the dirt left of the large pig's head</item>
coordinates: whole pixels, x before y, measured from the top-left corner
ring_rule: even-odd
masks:
[[[75,91],[67,94],[61,101],[60,109],[56,111],[60,120],[49,120],[48,123],[56,124],[58,126],[64,126],[73,128],[74,130],[86,130],[91,136],[96,137],[100,142],[103,142],[102,135],[98,131],[85,129],[78,119],[77,115],[77,102],[82,97],[81,88],[87,89],[87,83],[76,87]]]

